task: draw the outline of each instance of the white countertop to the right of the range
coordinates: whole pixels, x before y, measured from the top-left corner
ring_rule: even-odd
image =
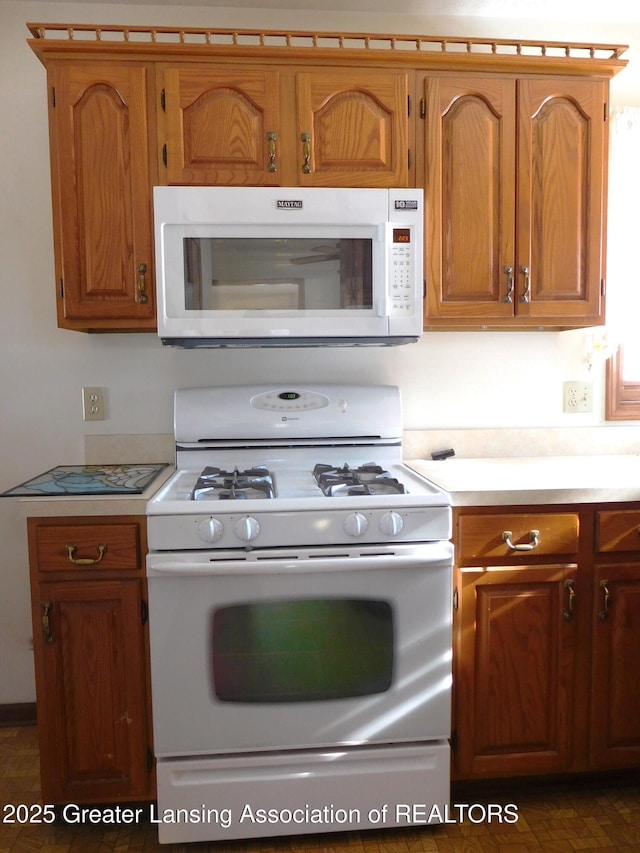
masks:
[[[640,501],[640,456],[405,460],[454,506]]]

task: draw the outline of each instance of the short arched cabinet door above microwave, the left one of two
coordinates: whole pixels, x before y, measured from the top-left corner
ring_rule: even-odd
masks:
[[[164,71],[169,184],[277,186],[277,71]]]

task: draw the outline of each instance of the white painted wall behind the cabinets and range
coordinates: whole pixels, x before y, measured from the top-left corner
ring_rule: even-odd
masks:
[[[286,26],[640,46],[638,25],[0,0],[0,491],[53,465],[82,462],[85,434],[170,433],[171,393],[180,385],[310,378],[390,382],[402,387],[407,428],[604,424],[601,366],[593,371],[594,413],[562,413],[562,382],[587,375],[579,331],[438,332],[400,348],[258,354],[174,351],[163,349],[154,335],[59,330],[45,72],[26,44],[27,21]],[[635,66],[612,89],[614,100],[640,103]],[[107,389],[108,420],[83,422],[84,385]],[[26,531],[16,502],[7,498],[0,500],[0,542],[0,704],[28,702],[35,694]]]

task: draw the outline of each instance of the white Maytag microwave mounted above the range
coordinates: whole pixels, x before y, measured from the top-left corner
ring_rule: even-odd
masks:
[[[419,189],[156,187],[158,334],[206,346],[422,333]]]

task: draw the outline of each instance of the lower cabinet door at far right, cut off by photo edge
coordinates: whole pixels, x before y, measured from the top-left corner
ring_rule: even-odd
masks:
[[[593,637],[592,765],[640,766],[640,564],[596,568]]]

